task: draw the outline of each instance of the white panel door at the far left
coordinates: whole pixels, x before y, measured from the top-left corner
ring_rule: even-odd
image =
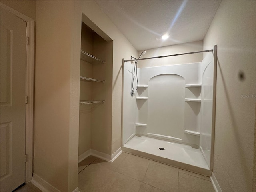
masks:
[[[26,22],[1,7],[1,192],[25,182]]]

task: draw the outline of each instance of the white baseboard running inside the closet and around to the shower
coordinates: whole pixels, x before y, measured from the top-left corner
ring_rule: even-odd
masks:
[[[96,151],[93,149],[89,149],[86,152],[84,152],[83,154],[81,154],[80,156],[78,156],[78,163],[80,163],[82,160],[84,160],[85,158],[87,158],[90,155],[98,157],[98,158],[103,159],[108,162],[113,162],[121,153],[122,153],[121,148],[116,150],[116,152],[114,152],[112,155],[108,155],[106,153],[102,153],[102,152],[99,152],[99,151]]]

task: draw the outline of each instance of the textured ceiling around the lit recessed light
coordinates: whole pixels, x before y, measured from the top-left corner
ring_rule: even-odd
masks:
[[[137,50],[202,40],[221,1],[96,1]],[[170,34],[163,41],[160,36]]]

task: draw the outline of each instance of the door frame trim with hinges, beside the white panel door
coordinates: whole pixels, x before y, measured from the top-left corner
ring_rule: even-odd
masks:
[[[35,42],[35,21],[0,3],[1,8],[16,15],[27,23],[27,36],[29,43],[26,45],[26,96],[28,96],[28,103],[26,104],[26,146],[27,162],[25,165],[25,182],[29,182],[33,175],[33,128],[34,128],[34,42]],[[25,98],[24,98],[25,102]]]

